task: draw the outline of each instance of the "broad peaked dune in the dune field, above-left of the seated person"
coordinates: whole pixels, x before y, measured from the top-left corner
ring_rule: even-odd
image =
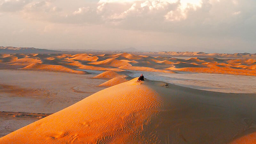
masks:
[[[103,60],[103,61],[98,61],[98,62],[91,62],[89,64],[104,65],[104,66],[110,66],[110,67],[132,66],[128,62],[124,62],[124,61],[121,61],[121,60],[116,60],[114,58]]]

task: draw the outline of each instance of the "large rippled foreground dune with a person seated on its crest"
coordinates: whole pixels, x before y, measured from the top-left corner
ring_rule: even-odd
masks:
[[[246,136],[256,139],[255,94],[136,80],[92,94],[0,138],[0,143],[221,144]]]

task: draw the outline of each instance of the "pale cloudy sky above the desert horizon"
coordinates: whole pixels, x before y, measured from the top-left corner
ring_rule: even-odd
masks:
[[[255,0],[0,0],[0,46],[256,53]]]

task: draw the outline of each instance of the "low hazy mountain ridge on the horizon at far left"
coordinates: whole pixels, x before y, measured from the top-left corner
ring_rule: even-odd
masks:
[[[37,49],[33,47],[12,47],[12,46],[0,46],[0,53],[43,53],[43,54],[52,54],[52,53],[62,53],[61,51],[53,51],[46,49]]]

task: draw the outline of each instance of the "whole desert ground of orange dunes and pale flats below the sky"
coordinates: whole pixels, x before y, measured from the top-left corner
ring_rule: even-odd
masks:
[[[256,142],[254,54],[52,53],[0,54],[0,143]]]

